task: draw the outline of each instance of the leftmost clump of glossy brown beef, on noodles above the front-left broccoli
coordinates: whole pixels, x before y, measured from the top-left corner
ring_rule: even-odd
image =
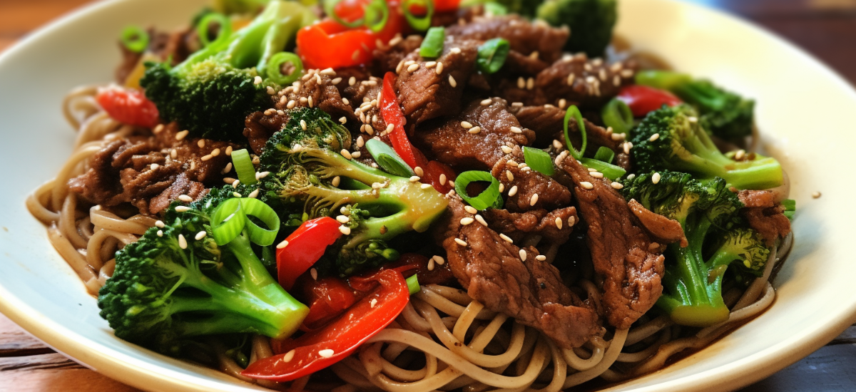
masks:
[[[178,140],[175,123],[155,129],[152,135],[105,144],[90,159],[86,173],[68,181],[69,189],[95,204],[130,203],[143,214],[158,214],[181,194],[174,194],[177,187],[196,193],[199,187],[222,184],[223,169],[231,161],[228,152],[241,148],[223,141]],[[170,190],[180,175],[187,185]],[[152,199],[157,199],[153,205]]]

